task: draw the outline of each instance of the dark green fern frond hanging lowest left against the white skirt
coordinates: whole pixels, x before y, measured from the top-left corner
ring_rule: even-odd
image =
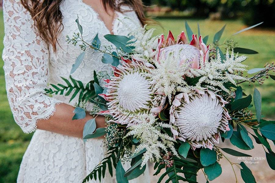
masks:
[[[108,170],[111,176],[113,176],[113,168],[116,168],[116,155],[118,154],[118,147],[110,147],[108,150],[108,153],[106,154],[107,157],[105,157],[95,168],[94,170],[84,178],[82,183],[88,182],[89,180],[97,180],[101,181],[101,177],[104,178],[106,167],[108,165]],[[98,177],[97,177],[98,176]]]

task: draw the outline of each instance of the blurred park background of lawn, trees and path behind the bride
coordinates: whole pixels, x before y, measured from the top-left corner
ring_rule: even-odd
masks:
[[[275,27],[275,0],[143,0],[143,2],[149,6],[146,9],[147,14],[155,17],[155,20],[163,26],[162,28],[159,25],[150,26],[157,28],[155,34],[167,35],[168,30],[171,30],[176,36],[185,30],[184,21],[187,20],[194,32],[197,32],[197,23],[199,23],[202,35],[209,35],[209,40],[213,40],[215,32],[226,24],[221,39],[224,41],[238,30],[264,21],[260,27],[237,35],[234,40],[238,42],[239,47],[259,52],[249,55],[249,59],[245,61],[244,64],[250,68],[262,68],[266,62],[275,62],[275,31],[272,28]],[[2,0],[0,0],[0,56],[4,37],[1,8]],[[13,120],[6,96],[3,64],[0,57],[0,183],[13,183],[16,182],[20,162],[33,133],[24,134]],[[256,86],[258,87],[258,84]],[[244,84],[242,87],[247,94],[253,94],[253,86]],[[262,95],[262,114],[265,119],[274,120],[274,81],[269,79],[258,88]],[[254,150],[254,154],[258,154],[259,149]],[[274,174],[270,174],[270,169],[266,169],[269,168],[267,163],[264,163],[266,162],[250,166],[257,182],[275,182]],[[230,176],[234,175],[229,174]],[[228,181],[233,182],[231,178]],[[215,182],[222,181],[213,181]]]

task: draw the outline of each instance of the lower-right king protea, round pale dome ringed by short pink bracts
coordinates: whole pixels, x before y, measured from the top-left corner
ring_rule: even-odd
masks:
[[[170,109],[174,138],[187,141],[191,147],[212,149],[220,133],[229,131],[230,116],[224,107],[228,103],[208,90],[194,90],[175,96]],[[176,128],[176,129],[175,129]]]

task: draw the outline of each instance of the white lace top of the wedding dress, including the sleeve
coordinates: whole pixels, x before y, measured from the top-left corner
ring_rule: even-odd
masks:
[[[125,6],[123,9],[130,10]],[[98,14],[82,0],[63,0],[60,4],[63,15],[62,23],[64,30],[58,38],[61,47],[57,46],[54,53],[51,46],[39,37],[29,12],[21,5],[20,0],[4,0],[3,14],[5,22],[5,37],[3,60],[5,70],[6,89],[9,104],[16,123],[26,133],[35,131],[36,122],[39,119],[47,119],[54,113],[58,102],[68,103],[70,96],[45,95],[44,88],[47,83],[63,83],[61,77],[68,78],[72,64],[76,57],[82,52],[78,46],[67,44],[65,36],[78,32],[75,19],[83,27],[84,40],[91,42],[95,35],[101,40],[101,45],[109,45],[103,37],[110,34],[104,22]],[[135,12],[116,12],[116,17],[130,17],[127,24],[129,27],[140,26]],[[127,35],[129,30],[125,24],[115,19],[113,22],[113,33]],[[102,54],[90,50],[79,66],[72,74],[76,80],[84,84],[93,79],[93,71],[111,74],[111,67],[101,62]],[[74,101],[70,103],[74,104]]]

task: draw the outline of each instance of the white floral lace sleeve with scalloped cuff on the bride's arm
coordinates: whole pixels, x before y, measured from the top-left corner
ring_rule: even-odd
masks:
[[[39,119],[55,111],[56,99],[43,94],[48,78],[49,52],[35,31],[20,0],[4,0],[4,71],[13,117],[25,133],[35,131]]]

